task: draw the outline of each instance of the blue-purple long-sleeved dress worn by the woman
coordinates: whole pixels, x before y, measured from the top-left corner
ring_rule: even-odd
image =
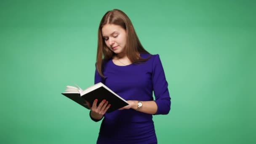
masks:
[[[155,115],[166,115],[171,109],[168,83],[159,55],[141,53],[142,58],[149,56],[150,59],[142,64],[128,66],[117,66],[110,59],[104,64],[105,78],[96,71],[95,83],[104,83],[125,100],[153,101],[154,92]],[[134,109],[106,113],[97,144],[157,144],[152,115]]]

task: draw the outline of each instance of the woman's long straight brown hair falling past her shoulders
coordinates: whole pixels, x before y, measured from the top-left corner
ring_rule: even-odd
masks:
[[[101,77],[104,77],[102,72],[103,61],[108,61],[115,55],[115,53],[107,47],[106,43],[104,42],[104,38],[102,37],[101,29],[105,24],[115,24],[125,29],[127,35],[125,53],[132,63],[139,64],[141,62],[147,61],[150,58],[149,57],[147,59],[143,59],[138,56],[139,53],[150,53],[147,52],[141,45],[141,42],[136,35],[135,29],[129,17],[123,11],[118,9],[107,11],[107,13],[105,13],[101,19],[98,30],[96,69]]]

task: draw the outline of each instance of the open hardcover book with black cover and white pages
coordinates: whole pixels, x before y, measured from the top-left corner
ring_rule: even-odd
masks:
[[[127,101],[118,96],[103,83],[97,83],[85,90],[81,89],[79,86],[75,87],[68,85],[66,92],[61,94],[67,96],[69,99],[72,99],[87,109],[89,108],[85,101],[88,101],[92,106],[95,99],[98,99],[97,106],[104,99],[109,102],[108,104],[111,104],[107,112],[112,112],[128,105]]]

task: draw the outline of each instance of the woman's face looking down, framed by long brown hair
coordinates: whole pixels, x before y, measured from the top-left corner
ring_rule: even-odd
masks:
[[[101,29],[107,47],[114,53],[125,53],[126,31],[119,25],[105,24]]]

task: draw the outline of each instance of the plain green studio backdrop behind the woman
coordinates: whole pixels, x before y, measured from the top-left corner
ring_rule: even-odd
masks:
[[[256,2],[251,0],[1,0],[0,143],[96,143],[100,123],[61,95],[94,83],[97,29],[124,11],[159,54],[171,112],[159,144],[256,142]]]

